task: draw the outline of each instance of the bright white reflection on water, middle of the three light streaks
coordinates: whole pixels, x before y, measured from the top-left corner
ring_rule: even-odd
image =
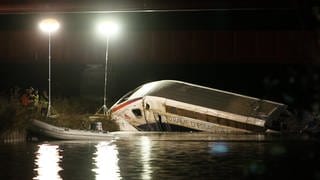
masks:
[[[96,173],[96,180],[100,179],[121,179],[118,165],[118,149],[112,142],[100,142],[96,146],[94,153],[94,164],[92,171]]]

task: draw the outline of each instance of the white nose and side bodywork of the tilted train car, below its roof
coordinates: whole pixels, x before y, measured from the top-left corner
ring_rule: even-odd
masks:
[[[186,127],[191,130],[211,133],[227,132],[252,132],[246,129],[224,126],[205,120],[206,118],[189,118],[166,112],[166,107],[179,107],[190,112],[198,113],[200,116],[216,117],[217,119],[232,119],[243,124],[254,125],[264,129],[265,121],[257,118],[231,114],[219,110],[186,104],[170,99],[147,96],[127,104],[123,109],[112,112],[121,131],[170,131],[170,125]],[[137,116],[130,110],[140,109],[141,116]],[[152,124],[152,127],[148,125]],[[139,128],[145,126],[145,128]],[[167,126],[166,128],[162,126]],[[263,131],[263,130],[262,130]]]

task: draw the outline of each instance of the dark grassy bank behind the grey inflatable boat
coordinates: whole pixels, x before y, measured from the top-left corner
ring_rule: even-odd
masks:
[[[57,98],[53,100],[52,107],[57,113],[55,118],[41,115],[40,108],[23,107],[19,101],[9,102],[5,97],[0,98],[0,137],[14,131],[25,131],[30,126],[30,120],[35,118],[50,124],[68,127],[71,129],[89,129],[91,120],[89,116],[96,111],[96,102],[77,98]],[[118,125],[109,117],[99,118],[103,130],[117,131]]]

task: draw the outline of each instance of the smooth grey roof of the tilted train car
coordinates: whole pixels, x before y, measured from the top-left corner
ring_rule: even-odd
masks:
[[[274,111],[285,109],[278,102],[249,97],[176,80],[161,80],[138,87],[129,97],[157,96],[188,104],[216,109],[234,114],[266,118]]]

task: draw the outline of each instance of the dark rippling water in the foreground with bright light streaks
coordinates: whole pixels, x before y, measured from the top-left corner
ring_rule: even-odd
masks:
[[[319,142],[277,135],[117,133],[0,144],[0,179],[320,179]]]

